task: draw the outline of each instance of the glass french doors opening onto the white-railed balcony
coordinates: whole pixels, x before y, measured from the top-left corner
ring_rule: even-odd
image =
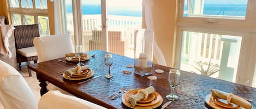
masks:
[[[68,34],[75,44],[82,44],[85,52],[99,49],[133,57],[134,31],[142,25],[141,1],[65,2]]]

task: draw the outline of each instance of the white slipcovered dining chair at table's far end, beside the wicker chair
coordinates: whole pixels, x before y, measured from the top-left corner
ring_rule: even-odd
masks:
[[[39,62],[58,59],[64,57],[66,53],[75,53],[71,37],[68,34],[35,37],[33,43],[37,50]],[[61,91],[61,93],[69,94],[52,84],[48,84],[47,88],[49,90],[58,90]]]

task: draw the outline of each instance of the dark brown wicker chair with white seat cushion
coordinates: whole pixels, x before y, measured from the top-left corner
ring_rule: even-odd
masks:
[[[29,65],[30,61],[37,63],[38,57],[33,44],[33,39],[40,35],[38,24],[17,25],[14,27],[16,57],[18,69],[21,70],[21,62],[27,62],[27,65]],[[29,76],[32,76],[30,69],[28,69],[28,74]]]

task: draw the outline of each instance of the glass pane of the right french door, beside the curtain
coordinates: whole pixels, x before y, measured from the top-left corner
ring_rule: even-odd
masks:
[[[134,57],[134,31],[142,26],[141,0],[108,0],[109,52]]]

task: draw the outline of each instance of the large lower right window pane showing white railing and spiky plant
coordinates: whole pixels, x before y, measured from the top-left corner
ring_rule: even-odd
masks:
[[[241,41],[241,36],[183,31],[180,68],[235,82]]]

